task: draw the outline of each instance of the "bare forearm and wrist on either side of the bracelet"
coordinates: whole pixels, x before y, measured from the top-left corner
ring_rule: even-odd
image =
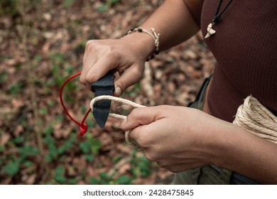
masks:
[[[185,1],[190,2],[189,4]],[[202,3],[200,0],[167,0],[143,23],[142,28],[151,32],[155,28],[160,33],[160,50],[167,50],[193,36],[199,27],[192,16],[191,10],[200,13]],[[193,2],[193,3],[191,3]],[[193,4],[193,5],[191,5]],[[188,5],[191,7],[189,8]],[[124,37],[127,41],[136,43],[136,48],[147,57],[153,53],[155,46],[153,38],[144,33],[132,33]]]

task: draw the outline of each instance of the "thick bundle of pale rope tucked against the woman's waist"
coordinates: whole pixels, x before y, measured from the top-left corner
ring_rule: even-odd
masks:
[[[277,144],[277,117],[255,97],[244,99],[244,104],[237,109],[233,124]]]

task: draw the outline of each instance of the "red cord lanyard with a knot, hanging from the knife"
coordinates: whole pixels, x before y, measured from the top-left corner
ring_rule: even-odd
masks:
[[[87,116],[89,115],[89,112],[91,111],[91,109],[87,109],[87,112],[85,114],[85,117],[82,119],[82,122],[77,122],[67,111],[65,104],[63,102],[63,88],[65,87],[65,85],[67,84],[67,82],[69,82],[70,80],[72,80],[73,78],[77,77],[81,75],[81,71],[77,72],[75,75],[72,75],[71,77],[68,77],[67,80],[65,80],[65,82],[63,82],[62,87],[60,87],[60,103],[63,106],[63,109],[65,110],[65,113],[67,114],[68,117],[70,117],[70,119],[75,122],[79,128],[80,128],[80,134],[79,136],[84,135],[87,132],[87,124],[85,123],[85,120],[87,119]]]

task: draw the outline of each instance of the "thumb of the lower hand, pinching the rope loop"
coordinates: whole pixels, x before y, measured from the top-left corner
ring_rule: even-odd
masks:
[[[151,124],[164,117],[161,110],[159,107],[136,108],[121,122],[120,127],[128,131],[141,125]]]

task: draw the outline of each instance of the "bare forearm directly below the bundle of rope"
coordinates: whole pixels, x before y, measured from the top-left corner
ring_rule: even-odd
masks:
[[[254,181],[277,184],[277,145],[233,124],[227,127],[224,133],[217,133],[219,147],[214,164]]]

